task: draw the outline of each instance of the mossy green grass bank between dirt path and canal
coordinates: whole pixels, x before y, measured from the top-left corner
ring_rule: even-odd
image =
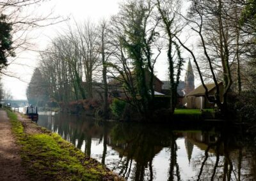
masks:
[[[17,115],[6,112],[21,147],[22,164],[28,170],[31,180],[119,180],[102,164],[85,156],[58,134],[35,124],[37,131],[26,133]]]

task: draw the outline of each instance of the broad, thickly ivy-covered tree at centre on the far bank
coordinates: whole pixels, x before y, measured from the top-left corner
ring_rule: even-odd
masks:
[[[136,91],[141,97],[139,111],[147,115],[154,109],[154,64],[152,48],[159,35],[156,31],[158,20],[152,18],[154,4],[152,1],[127,1],[122,4],[115,22],[123,29],[121,43],[132,60],[136,75]],[[149,75],[147,83],[146,76]]]

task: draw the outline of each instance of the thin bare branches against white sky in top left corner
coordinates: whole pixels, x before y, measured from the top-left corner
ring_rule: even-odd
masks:
[[[52,10],[38,13],[44,0],[4,0],[0,3],[0,13],[8,17],[12,25],[13,48],[26,50],[30,47],[29,33],[37,27],[62,22],[60,17],[54,16]],[[65,19],[64,19],[65,20]],[[31,47],[30,47],[31,48]]]

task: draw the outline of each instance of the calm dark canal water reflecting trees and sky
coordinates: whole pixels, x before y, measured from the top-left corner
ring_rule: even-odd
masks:
[[[127,180],[256,180],[255,140],[236,127],[104,123],[49,112],[37,123]]]

